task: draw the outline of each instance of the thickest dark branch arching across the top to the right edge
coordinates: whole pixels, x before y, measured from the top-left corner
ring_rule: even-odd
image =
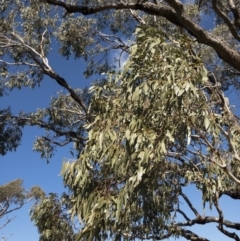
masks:
[[[85,7],[66,4],[62,1],[57,0],[45,0],[46,3],[60,6],[69,13],[81,13],[83,15],[90,15],[99,13],[106,10],[121,10],[121,9],[132,9],[141,10],[147,14],[156,16],[162,16],[169,22],[180,26],[192,34],[199,43],[205,44],[212,47],[218,54],[218,56],[226,63],[231,65],[236,70],[240,71],[240,53],[237,50],[233,50],[229,44],[218,36],[209,33],[208,31],[201,28],[199,25],[194,23],[187,15],[184,14],[183,4],[180,1],[169,0],[167,1],[172,7],[164,4],[154,4],[151,2],[144,3],[118,3],[108,4],[97,7]]]

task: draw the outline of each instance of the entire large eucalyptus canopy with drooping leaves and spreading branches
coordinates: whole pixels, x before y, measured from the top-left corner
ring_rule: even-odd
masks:
[[[31,210],[40,240],[206,241],[190,227],[208,223],[240,240],[232,231],[240,222],[225,219],[219,204],[223,195],[240,199],[239,117],[224,94],[239,88],[239,5],[3,1],[1,95],[41,86],[46,76],[68,92],[31,113],[0,110],[2,155],[17,148],[26,125],[46,130],[34,150],[47,160],[74,144],[75,159],[62,167],[68,193],[41,195]],[[73,89],[51,66],[52,48],[84,59],[92,86]],[[216,216],[194,207],[184,192],[190,186]]]

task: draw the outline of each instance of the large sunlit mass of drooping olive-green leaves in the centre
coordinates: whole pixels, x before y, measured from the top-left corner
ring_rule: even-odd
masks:
[[[122,73],[90,89],[88,141],[62,170],[72,215],[84,223],[79,240],[180,234],[173,211],[183,185],[195,183],[204,203],[217,205],[239,182],[238,119],[191,39],[176,45],[137,28]]]

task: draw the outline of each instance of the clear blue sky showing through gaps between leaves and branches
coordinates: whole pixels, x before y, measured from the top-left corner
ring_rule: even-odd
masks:
[[[72,85],[74,88],[82,88],[88,86],[91,80],[84,79],[82,72],[84,62],[80,60],[65,60],[61,58],[56,51],[50,56],[50,64],[52,67]],[[34,90],[24,88],[22,90],[14,90],[9,96],[0,98],[0,107],[11,106],[12,111],[17,113],[20,110],[33,111],[36,108],[47,107],[50,102],[50,97],[56,92],[62,90],[54,80],[45,78],[40,88]],[[233,104],[239,105],[239,98],[236,93],[231,94]],[[56,155],[51,159],[50,164],[40,159],[40,155],[32,151],[33,141],[35,136],[41,134],[42,131],[38,128],[25,128],[22,138],[22,144],[16,152],[8,153],[4,157],[0,157],[0,185],[5,184],[14,179],[20,178],[24,180],[24,187],[29,189],[31,186],[38,185],[46,193],[63,192],[62,178],[59,176],[61,164],[64,158],[71,158],[69,148],[59,148]],[[195,188],[189,187],[186,189],[187,194],[199,210],[202,210],[202,201],[200,192]],[[221,204],[225,211],[225,218],[230,221],[239,222],[240,219],[240,201],[232,201],[230,198],[222,198]],[[16,219],[8,224],[4,229],[0,230],[0,234],[5,237],[12,236],[9,241],[37,241],[38,232],[36,227],[30,221],[29,210],[32,203],[25,205],[21,210],[9,215],[16,216]],[[184,204],[187,208],[187,205]],[[188,212],[189,213],[189,212]],[[202,210],[202,212],[204,211]],[[214,215],[216,211],[210,213],[206,209],[206,215]],[[190,217],[192,214],[189,213]],[[5,218],[0,220],[0,226],[5,221]],[[230,240],[221,235],[216,224],[198,226],[193,228],[199,235],[207,237],[210,240]],[[173,239],[169,239],[173,240]],[[179,239],[185,240],[185,239]]]

